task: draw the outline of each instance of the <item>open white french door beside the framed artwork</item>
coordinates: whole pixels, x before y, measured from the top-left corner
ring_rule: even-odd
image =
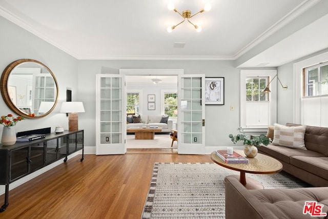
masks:
[[[178,153],[204,154],[205,76],[180,75],[178,82]]]

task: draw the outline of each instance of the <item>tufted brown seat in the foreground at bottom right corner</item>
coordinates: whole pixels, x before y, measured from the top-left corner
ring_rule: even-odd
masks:
[[[247,190],[231,176],[227,176],[224,183],[226,219],[328,218],[303,214],[306,201],[323,205],[321,213],[328,213],[328,187]]]

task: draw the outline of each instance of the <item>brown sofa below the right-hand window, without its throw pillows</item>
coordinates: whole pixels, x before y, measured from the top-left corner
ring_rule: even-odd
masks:
[[[258,150],[279,160],[285,172],[302,181],[317,187],[328,186],[328,128],[306,126],[304,143],[307,150],[272,144],[258,147]]]

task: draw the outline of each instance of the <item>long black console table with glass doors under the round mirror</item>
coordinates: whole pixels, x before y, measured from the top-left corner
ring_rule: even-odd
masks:
[[[5,204],[0,212],[9,205],[9,184],[61,158],[82,150],[84,160],[84,130],[64,131],[46,134],[45,138],[31,142],[16,142],[14,145],[0,144],[0,185],[6,186]]]

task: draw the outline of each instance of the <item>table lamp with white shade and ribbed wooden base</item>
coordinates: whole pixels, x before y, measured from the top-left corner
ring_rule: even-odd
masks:
[[[68,130],[78,130],[78,112],[85,112],[82,102],[63,102],[60,108],[61,113],[68,113]]]

